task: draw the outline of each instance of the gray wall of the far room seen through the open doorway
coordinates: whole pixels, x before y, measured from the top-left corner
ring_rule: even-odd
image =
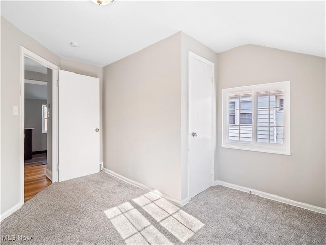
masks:
[[[42,133],[42,105],[46,105],[46,100],[25,100],[25,128],[34,128],[33,152],[46,150],[47,134]]]

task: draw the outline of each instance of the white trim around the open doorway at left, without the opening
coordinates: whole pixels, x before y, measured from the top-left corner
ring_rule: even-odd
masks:
[[[58,181],[58,70],[59,66],[21,46],[20,49],[20,203],[24,204],[25,160],[25,57],[52,70],[52,183]]]

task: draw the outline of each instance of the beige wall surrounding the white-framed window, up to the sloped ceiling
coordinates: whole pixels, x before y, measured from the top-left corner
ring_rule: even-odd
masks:
[[[219,147],[218,179],[325,208],[325,58],[255,45],[219,54],[219,96],[224,88],[288,80],[292,155]]]

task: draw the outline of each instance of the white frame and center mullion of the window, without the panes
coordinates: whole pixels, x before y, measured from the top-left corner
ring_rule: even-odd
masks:
[[[268,91],[284,91],[283,104],[283,143],[264,143],[257,142],[257,93]],[[229,94],[252,92],[252,141],[232,141],[229,137]],[[259,85],[251,85],[237,88],[222,89],[222,145],[223,148],[232,148],[248,151],[276,153],[283,155],[291,155],[290,151],[290,81],[266,83]]]

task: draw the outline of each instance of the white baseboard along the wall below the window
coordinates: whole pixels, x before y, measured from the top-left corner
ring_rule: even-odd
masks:
[[[281,203],[286,203],[286,204],[289,204],[289,205],[292,205],[292,206],[296,206],[296,207],[308,209],[308,210],[311,210],[311,211],[314,211],[314,212],[326,214],[326,208],[321,208],[321,207],[310,205],[310,204],[307,204],[307,203],[297,202],[297,201],[294,201],[294,200],[291,200],[291,199],[279,197],[278,195],[269,194],[269,193],[262,192],[262,191],[259,191],[259,190],[254,190],[254,189],[250,189],[250,188],[247,188],[247,187],[243,187],[243,186],[239,186],[239,185],[235,185],[235,184],[231,184],[231,183],[224,182],[224,181],[219,181],[219,180],[215,181],[215,185],[223,185],[225,187],[229,187],[229,188],[232,188],[232,189],[235,189],[235,190],[240,190],[240,191],[247,192],[247,193],[249,193],[249,191],[251,191],[251,194],[259,195],[259,197],[268,198],[268,199],[278,201],[278,202],[281,202]]]

